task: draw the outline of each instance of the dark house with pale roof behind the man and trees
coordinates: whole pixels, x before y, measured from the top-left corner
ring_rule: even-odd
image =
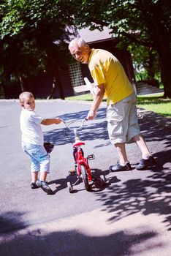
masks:
[[[132,58],[128,51],[117,48],[118,41],[112,37],[110,30],[107,29],[107,27],[104,28],[104,31],[99,31],[98,29],[95,29],[94,31],[90,31],[89,29],[80,29],[78,34],[88,42],[88,45],[90,45],[91,48],[102,48],[113,53],[113,55],[121,61],[121,64],[123,64],[123,68],[125,69],[129,80],[132,82],[132,79],[134,79]],[[64,97],[75,95],[73,88],[75,86],[85,84],[83,80],[85,77],[93,82],[88,66],[86,64],[81,64],[78,61],[73,61],[68,65],[68,67],[62,69],[58,78]],[[46,99],[53,89],[53,77],[47,75],[46,72],[33,78],[33,83],[33,93],[36,98]],[[20,92],[20,85],[15,83],[14,86],[6,88],[4,94],[6,98],[18,98]],[[53,93],[53,99],[55,98],[60,98],[58,86]]]

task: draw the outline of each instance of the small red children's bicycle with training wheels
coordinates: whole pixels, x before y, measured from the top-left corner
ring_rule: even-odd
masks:
[[[67,182],[67,187],[68,187],[70,193],[73,192],[73,187],[78,182],[80,183],[80,179],[83,180],[84,187],[87,191],[91,190],[91,187],[92,187],[91,181],[93,182],[93,184],[98,182],[101,184],[101,186],[104,186],[104,184],[106,182],[106,178],[104,175],[99,176],[99,178],[92,177],[91,168],[88,165],[88,160],[94,159],[95,158],[94,154],[89,154],[87,157],[84,157],[83,148],[81,148],[81,146],[85,145],[85,143],[83,141],[81,141],[77,135],[77,130],[81,129],[83,127],[84,122],[87,120],[88,119],[84,118],[81,121],[80,127],[77,127],[77,128],[70,127],[71,124],[73,124],[77,121],[72,121],[72,122],[68,123],[68,122],[62,120],[64,122],[64,124],[66,125],[66,127],[68,129],[72,130],[75,134],[75,143],[72,144],[73,157],[75,159],[75,171],[70,171],[69,175],[73,175],[73,174],[77,173],[77,181],[75,181],[74,184],[71,184],[71,182]]]

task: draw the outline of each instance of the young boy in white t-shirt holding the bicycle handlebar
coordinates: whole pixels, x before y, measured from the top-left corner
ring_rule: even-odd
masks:
[[[22,111],[20,113],[20,129],[22,132],[22,147],[23,151],[31,157],[31,189],[42,189],[47,194],[52,194],[53,191],[47,184],[47,173],[50,170],[50,157],[45,150],[44,139],[40,124],[60,124],[60,118],[44,119],[39,116],[35,109],[34,95],[31,92],[24,91],[19,96]],[[40,177],[38,179],[38,173]]]

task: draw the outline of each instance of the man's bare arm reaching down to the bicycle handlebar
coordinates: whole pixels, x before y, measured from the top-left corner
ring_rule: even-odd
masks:
[[[100,84],[99,86],[96,86],[96,94],[94,96],[94,100],[93,103],[91,105],[91,109],[88,112],[88,115],[86,118],[88,119],[94,119],[94,117],[96,116],[96,111],[99,108],[99,105],[102,102],[102,99],[104,97],[104,83]]]

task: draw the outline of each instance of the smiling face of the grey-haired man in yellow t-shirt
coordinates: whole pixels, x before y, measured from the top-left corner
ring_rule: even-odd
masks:
[[[90,55],[90,48],[88,48],[88,45],[79,47],[77,44],[75,44],[69,50],[70,50],[70,53],[72,54],[72,56],[77,61],[80,61],[83,64],[88,63],[88,58]]]

